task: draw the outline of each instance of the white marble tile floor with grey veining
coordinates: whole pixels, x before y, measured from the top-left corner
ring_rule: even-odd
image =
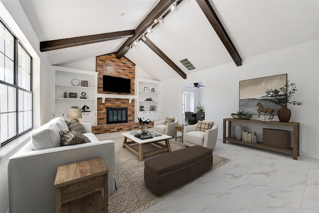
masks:
[[[231,161],[144,213],[319,213],[319,160],[221,139],[213,153]]]

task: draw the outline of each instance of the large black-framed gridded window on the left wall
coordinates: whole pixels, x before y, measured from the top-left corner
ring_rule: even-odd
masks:
[[[32,58],[0,21],[0,143],[32,128]]]

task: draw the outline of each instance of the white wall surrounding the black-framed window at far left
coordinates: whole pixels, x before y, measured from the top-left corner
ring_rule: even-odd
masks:
[[[18,0],[0,0],[0,18],[33,58],[33,127],[37,128],[50,120],[51,79],[48,78],[51,76],[50,62],[46,54],[39,51],[40,41]],[[7,163],[16,151],[0,159],[0,213],[3,213],[9,205]]]

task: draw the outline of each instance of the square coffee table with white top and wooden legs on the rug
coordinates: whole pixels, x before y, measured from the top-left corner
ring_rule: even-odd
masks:
[[[134,135],[131,135],[130,133],[122,133],[122,135],[124,136],[124,141],[122,144],[122,147],[126,147],[129,150],[131,150],[132,152],[134,152],[135,154],[138,155],[139,157],[139,161],[143,161],[144,156],[146,155],[150,155],[153,153],[158,153],[158,152],[170,152],[170,145],[169,145],[169,140],[170,138],[172,138],[169,135],[161,135],[158,137],[153,137],[150,139],[145,139],[145,140],[141,140],[137,137],[135,137]],[[128,141],[128,139],[130,139],[131,141]],[[160,141],[165,141],[165,145],[158,143]],[[151,150],[148,152],[144,152],[144,144],[150,144],[150,143],[154,143],[158,146],[160,146],[159,149],[155,149],[155,150]],[[134,144],[139,144],[139,150],[137,151],[136,149],[134,149],[131,145]]]

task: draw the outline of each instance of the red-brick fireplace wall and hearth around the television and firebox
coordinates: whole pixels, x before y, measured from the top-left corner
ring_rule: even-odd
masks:
[[[116,53],[110,53],[96,57],[96,71],[98,72],[98,93],[135,95],[135,64],[123,56],[116,58]],[[122,77],[131,79],[131,93],[114,93],[103,91],[103,75]],[[103,103],[102,98],[97,100],[97,126],[92,127],[94,134],[130,131],[141,129],[141,125],[135,120],[135,100],[129,102],[127,98],[106,98]],[[127,123],[107,124],[106,108],[127,108]]]

